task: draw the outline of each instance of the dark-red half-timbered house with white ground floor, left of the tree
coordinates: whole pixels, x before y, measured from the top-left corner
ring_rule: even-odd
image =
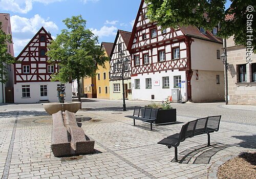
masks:
[[[51,75],[58,72],[57,64],[49,64],[46,52],[52,40],[42,27],[27,46],[16,57],[14,65],[14,102],[36,103],[39,101],[57,102],[57,86],[60,82],[51,82]],[[65,84],[65,101],[72,101],[72,84]]]

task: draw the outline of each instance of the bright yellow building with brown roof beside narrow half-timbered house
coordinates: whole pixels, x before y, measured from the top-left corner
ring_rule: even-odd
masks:
[[[110,57],[114,43],[102,42],[101,49],[105,56]],[[110,61],[106,61],[105,68],[98,65],[96,71],[97,98],[110,99]]]

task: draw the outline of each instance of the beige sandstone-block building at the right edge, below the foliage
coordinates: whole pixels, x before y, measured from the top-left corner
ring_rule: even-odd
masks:
[[[256,105],[256,55],[246,49],[227,39],[228,104]]]

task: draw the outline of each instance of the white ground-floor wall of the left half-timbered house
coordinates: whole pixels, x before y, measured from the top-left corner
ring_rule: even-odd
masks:
[[[49,102],[58,102],[57,84],[60,82],[33,82],[14,84],[14,102],[15,103],[37,103],[40,101],[40,85],[48,86]],[[22,85],[30,85],[30,98],[22,98]],[[66,97],[65,102],[72,101],[72,84],[65,84]]]

